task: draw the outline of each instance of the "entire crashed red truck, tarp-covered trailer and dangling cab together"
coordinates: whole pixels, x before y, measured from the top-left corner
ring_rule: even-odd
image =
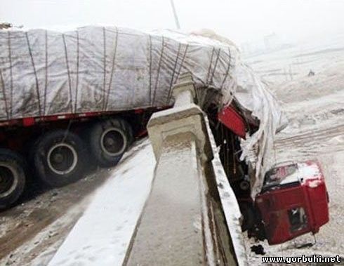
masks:
[[[284,185],[287,175],[279,185],[268,180],[274,135],[286,119],[231,41],[212,32],[88,26],[70,32],[4,29],[0,46],[1,209],[18,201],[29,176],[60,187],[81,178],[90,164],[116,165],[145,135],[152,113],[173,105],[173,84],[190,72],[239,201],[243,230],[278,244],[315,233],[328,221],[320,171],[296,174],[295,189]],[[317,179],[318,185],[301,179]],[[289,194],[300,200],[275,203]],[[322,204],[312,201],[315,194]],[[275,218],[278,212],[286,219]],[[314,215],[319,212],[321,219]],[[294,230],[297,215],[307,226]],[[277,235],[282,225],[285,234]]]

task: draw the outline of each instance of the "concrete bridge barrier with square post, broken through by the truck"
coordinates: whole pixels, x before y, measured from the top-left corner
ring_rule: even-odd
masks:
[[[147,129],[157,165],[124,265],[246,265],[237,200],[190,74]]]

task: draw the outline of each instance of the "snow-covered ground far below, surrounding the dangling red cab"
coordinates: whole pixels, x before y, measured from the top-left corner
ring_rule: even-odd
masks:
[[[304,44],[249,58],[282,102],[290,123],[277,134],[276,161],[317,159],[329,191],[330,221],[315,238],[310,234],[268,246],[266,255],[340,255],[344,257],[344,37],[333,43]],[[340,41],[338,41],[340,40]],[[289,71],[281,71],[291,67]],[[314,76],[308,76],[312,69]],[[303,244],[312,243],[312,246]],[[249,250],[254,241],[246,239]],[[261,255],[249,253],[252,265]],[[343,260],[343,259],[342,259]]]

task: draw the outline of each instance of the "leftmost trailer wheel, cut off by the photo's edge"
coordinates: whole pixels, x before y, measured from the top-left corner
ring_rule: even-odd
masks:
[[[0,210],[12,206],[24,191],[24,159],[9,149],[0,149]]]

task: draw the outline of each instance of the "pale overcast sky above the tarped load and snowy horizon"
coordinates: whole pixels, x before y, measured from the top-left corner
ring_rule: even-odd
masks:
[[[344,33],[344,0],[174,0],[183,29],[213,29],[241,44],[276,32],[292,41]],[[175,28],[170,0],[0,0],[0,20],[35,28]]]

